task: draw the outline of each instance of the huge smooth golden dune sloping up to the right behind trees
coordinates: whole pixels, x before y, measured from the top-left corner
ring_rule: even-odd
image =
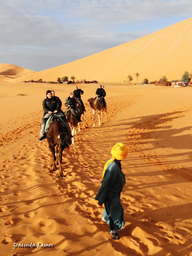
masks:
[[[55,80],[74,75],[76,79],[100,82],[122,82],[131,75],[136,82],[147,78],[158,80],[165,75],[168,80],[180,79],[185,70],[191,72],[190,56],[192,18],[175,23],[141,38],[100,51],[90,56],[45,69],[21,80]]]

